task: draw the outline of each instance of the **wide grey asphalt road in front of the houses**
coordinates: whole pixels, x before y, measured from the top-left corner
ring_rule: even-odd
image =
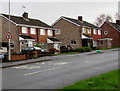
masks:
[[[3,89],[58,89],[118,68],[118,51],[70,55],[2,69]]]

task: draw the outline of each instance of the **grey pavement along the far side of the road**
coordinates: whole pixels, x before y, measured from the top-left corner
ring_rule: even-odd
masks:
[[[103,53],[110,52],[110,51],[118,51],[118,48],[115,49],[109,49],[109,50],[102,50]],[[91,51],[91,52],[85,52],[85,53],[77,53],[77,54],[66,54],[66,55],[57,55],[57,56],[45,56],[45,57],[39,57],[36,59],[27,59],[27,60],[22,60],[22,61],[12,61],[12,62],[5,62],[5,63],[0,63],[0,68],[6,68],[6,67],[11,67],[11,66],[17,66],[17,65],[23,65],[23,64],[29,64],[29,63],[35,63],[35,62],[42,62],[42,61],[50,61],[55,58],[62,58],[66,56],[86,56],[86,55],[92,55],[96,54],[96,51]]]

